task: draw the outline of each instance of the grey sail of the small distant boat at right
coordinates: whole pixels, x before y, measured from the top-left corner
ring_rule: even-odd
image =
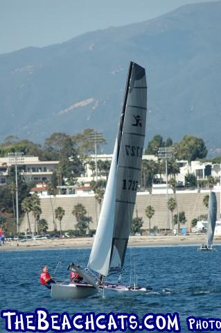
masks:
[[[211,191],[209,196],[209,207],[208,207],[208,225],[207,225],[207,245],[213,245],[213,235],[215,230],[216,213],[217,213],[217,202],[215,192]]]

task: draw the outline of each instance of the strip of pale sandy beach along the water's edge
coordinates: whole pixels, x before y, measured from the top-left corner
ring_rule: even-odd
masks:
[[[205,234],[131,236],[128,246],[184,246],[201,245],[206,240]],[[76,237],[67,239],[37,239],[27,241],[9,241],[0,246],[0,251],[33,250],[55,248],[91,248],[94,238]],[[221,244],[221,237],[214,237],[214,244]]]

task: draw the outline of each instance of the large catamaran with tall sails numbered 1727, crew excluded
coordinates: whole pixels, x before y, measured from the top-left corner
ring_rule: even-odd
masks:
[[[121,285],[136,191],[141,176],[146,112],[145,69],[131,62],[112,164],[89,262],[84,271],[71,264],[71,268],[85,282],[53,284],[52,298],[83,298],[107,290],[136,293],[148,290],[136,285]],[[110,273],[118,274],[116,284],[105,282]]]

